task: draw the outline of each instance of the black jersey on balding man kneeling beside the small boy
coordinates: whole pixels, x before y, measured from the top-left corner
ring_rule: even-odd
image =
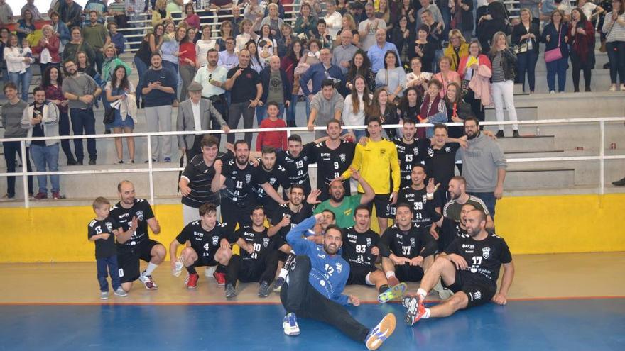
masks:
[[[130,228],[132,218],[137,218],[136,230],[125,243],[117,243],[119,249],[130,249],[134,245],[141,244],[144,240],[150,238],[148,235],[148,219],[154,218],[154,213],[152,211],[152,206],[150,206],[146,199],[134,199],[132,207],[127,209],[121,206],[120,201],[111,208],[109,216],[114,218],[124,231]]]

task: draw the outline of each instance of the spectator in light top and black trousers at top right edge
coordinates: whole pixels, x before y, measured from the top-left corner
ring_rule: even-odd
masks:
[[[612,1],[612,11],[605,16],[601,30],[606,35],[606,48],[610,62],[610,91],[616,91],[616,74],[619,74],[621,91],[625,91],[625,3]]]

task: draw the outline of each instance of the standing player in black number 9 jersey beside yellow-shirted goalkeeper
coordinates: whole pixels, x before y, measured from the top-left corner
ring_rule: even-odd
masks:
[[[317,160],[317,189],[321,191],[319,201],[330,198],[330,183],[352,165],[356,145],[341,140],[341,123],[335,119],[327,123],[327,140],[317,143],[312,149]],[[349,180],[343,180],[344,195],[352,195]]]

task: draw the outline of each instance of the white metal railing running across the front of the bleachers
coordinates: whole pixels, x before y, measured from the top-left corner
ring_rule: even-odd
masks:
[[[483,126],[498,126],[498,125],[555,125],[555,124],[599,124],[599,155],[594,156],[565,156],[565,157],[526,157],[526,158],[509,158],[508,162],[555,162],[555,161],[599,161],[599,189],[598,194],[600,196],[605,194],[605,160],[625,160],[625,155],[605,155],[605,123],[609,122],[624,122],[625,117],[603,117],[603,118],[562,118],[551,120],[536,120],[536,121],[517,121],[517,122],[483,122],[480,123]],[[445,123],[447,126],[462,126],[462,123]],[[433,124],[423,123],[418,124],[417,128],[432,127]],[[365,129],[366,126],[349,126],[350,129]],[[401,125],[388,125],[383,128],[401,128]],[[325,127],[315,127],[315,130],[325,130]],[[249,128],[249,129],[237,129],[231,130],[230,133],[258,133],[258,132],[270,132],[270,131],[286,131],[288,135],[292,132],[309,132],[308,128]],[[223,130],[202,130],[202,131],[171,131],[171,132],[158,132],[158,133],[132,133],[132,134],[99,134],[99,135],[66,135],[55,137],[41,137],[41,138],[4,138],[0,139],[0,142],[16,142],[21,144],[21,159],[26,160],[26,141],[33,140],[73,140],[73,139],[103,139],[103,138],[125,138],[128,136],[133,137],[145,137],[147,139],[147,152],[148,162],[147,167],[141,168],[109,168],[109,169],[85,169],[79,171],[58,171],[58,172],[28,172],[26,167],[22,167],[21,172],[14,173],[0,173],[0,177],[21,177],[23,183],[23,195],[24,195],[24,207],[30,207],[30,199],[28,198],[28,176],[38,175],[80,175],[80,174],[116,174],[116,173],[148,173],[148,184],[150,190],[150,203],[155,204],[154,197],[154,178],[155,172],[180,172],[183,167],[166,167],[166,168],[154,168],[152,162],[152,143],[151,136],[158,135],[200,135],[200,134],[214,134],[224,133]],[[111,165],[112,167],[124,167],[123,165]],[[311,165],[312,167],[312,165]],[[316,165],[315,165],[316,167]]]

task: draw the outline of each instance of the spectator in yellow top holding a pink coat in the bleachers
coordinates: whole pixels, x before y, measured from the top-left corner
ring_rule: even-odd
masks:
[[[491,69],[491,60],[487,55],[482,54],[479,41],[473,40],[469,44],[469,55],[460,60],[458,74],[462,79],[464,101],[471,105],[471,111],[482,122],[485,118],[484,106],[491,104]]]

